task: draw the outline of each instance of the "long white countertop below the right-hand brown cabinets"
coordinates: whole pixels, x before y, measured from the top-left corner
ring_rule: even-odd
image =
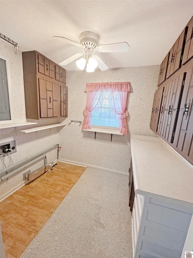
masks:
[[[160,138],[131,135],[131,157],[136,193],[193,204],[193,169]]]

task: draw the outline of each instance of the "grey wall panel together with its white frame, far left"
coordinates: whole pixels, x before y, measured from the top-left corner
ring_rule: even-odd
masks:
[[[0,55],[0,121],[13,123],[9,59]]]

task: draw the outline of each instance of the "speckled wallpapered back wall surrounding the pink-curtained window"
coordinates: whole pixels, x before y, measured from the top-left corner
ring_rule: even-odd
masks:
[[[155,136],[150,130],[150,116],[153,96],[157,89],[160,66],[130,67],[84,71],[68,71],[68,118],[66,126],[59,132],[62,149],[60,158],[86,163],[116,171],[128,172],[131,160],[130,134]],[[81,131],[78,123],[70,120],[83,120],[86,106],[84,89],[87,82],[130,81],[131,93],[128,97],[128,135]]]

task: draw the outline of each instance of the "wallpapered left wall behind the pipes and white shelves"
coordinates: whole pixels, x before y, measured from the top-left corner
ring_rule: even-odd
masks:
[[[13,95],[13,104],[14,104],[14,116],[15,122],[26,122],[25,115],[25,98],[24,98],[24,80],[23,80],[23,66],[22,66],[22,53],[18,51],[17,54],[14,53],[14,46],[7,43],[6,41],[0,39],[0,54],[9,58],[10,70],[11,70],[11,85],[12,85],[12,95]],[[49,121],[35,121],[38,122],[37,125],[40,126],[55,123],[57,119],[50,119]],[[61,122],[61,121],[58,121]],[[33,126],[26,126],[25,128],[30,128]],[[17,152],[11,155],[11,158],[14,163],[20,161],[23,158],[27,158],[29,155],[32,155],[40,150],[46,149],[49,146],[57,144],[59,128],[47,129],[39,132],[31,132],[24,134],[22,132],[17,132],[15,129],[21,129],[24,127],[18,128],[7,128],[0,129],[0,143],[8,142],[15,140]],[[48,162],[54,161],[57,159],[56,149],[49,152],[47,155]],[[5,165],[9,165],[8,157],[5,157]],[[21,171],[14,176],[10,177],[8,180],[0,182],[0,200],[3,196],[9,191],[18,186],[24,184],[23,173],[31,169],[34,171],[37,168],[40,168],[44,165],[44,161],[34,164],[28,169]],[[3,168],[2,162],[0,162],[0,169]]]

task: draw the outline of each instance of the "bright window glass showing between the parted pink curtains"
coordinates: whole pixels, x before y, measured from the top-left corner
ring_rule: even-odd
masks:
[[[119,128],[120,120],[115,120],[110,108],[112,100],[112,92],[98,91],[95,96],[94,106],[96,106],[92,114],[91,123],[93,126],[107,126]]]

